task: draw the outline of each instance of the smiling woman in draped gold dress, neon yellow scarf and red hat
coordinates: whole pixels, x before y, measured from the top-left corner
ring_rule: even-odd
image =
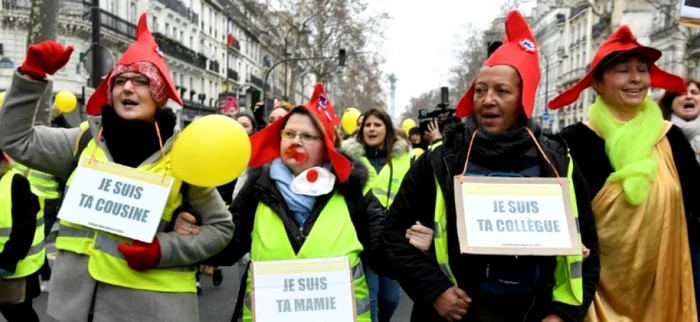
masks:
[[[664,121],[650,87],[685,91],[620,26],[598,49],[589,73],[549,102],[569,105],[588,87],[598,97],[588,121],[561,134],[586,175],[600,240],[600,286],[588,321],[697,321],[688,232],[700,203],[695,153]]]

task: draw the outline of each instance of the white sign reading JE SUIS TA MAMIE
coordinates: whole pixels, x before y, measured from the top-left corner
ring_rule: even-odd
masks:
[[[255,321],[355,321],[347,257],[253,263]]]

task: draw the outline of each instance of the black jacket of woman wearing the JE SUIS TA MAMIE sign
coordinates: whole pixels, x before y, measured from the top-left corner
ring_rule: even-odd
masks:
[[[367,168],[359,161],[353,161],[350,178],[344,183],[336,182],[334,192],[338,191],[345,197],[350,212],[350,217],[357,231],[357,237],[364,247],[360,255],[365,264],[373,269],[382,271],[382,265],[378,265],[381,259],[381,233],[385,220],[384,208],[379,204],[373,194],[362,195],[362,188],[369,178]],[[326,206],[332,193],[319,196],[313,207],[311,216],[306,221],[303,234],[284,202],[282,194],[277,190],[274,181],[270,178],[269,166],[250,169],[248,179],[241,191],[233,200],[229,211],[233,215],[233,223],[236,231],[231,243],[218,255],[205,261],[211,266],[231,266],[243,255],[250,251],[251,233],[255,212],[259,202],[272,208],[284,223],[287,237],[292,244],[294,252],[299,252],[304,244],[305,237],[311,232],[316,219]]]

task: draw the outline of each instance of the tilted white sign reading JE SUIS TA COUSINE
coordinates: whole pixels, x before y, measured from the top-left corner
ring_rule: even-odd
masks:
[[[76,168],[59,218],[115,235],[153,241],[173,180],[102,161]]]

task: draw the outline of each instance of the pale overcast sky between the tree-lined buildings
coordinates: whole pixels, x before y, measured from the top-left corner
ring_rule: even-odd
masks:
[[[377,9],[389,13],[386,40],[378,51],[387,62],[389,75],[396,74],[398,117],[412,96],[447,86],[448,71],[455,64],[455,48],[468,24],[486,29],[498,15],[503,0],[373,0]],[[523,12],[525,13],[525,12]],[[389,85],[387,82],[387,104]],[[451,102],[459,98],[450,97]],[[435,102],[436,104],[438,102]],[[389,107],[389,106],[387,106]]]

